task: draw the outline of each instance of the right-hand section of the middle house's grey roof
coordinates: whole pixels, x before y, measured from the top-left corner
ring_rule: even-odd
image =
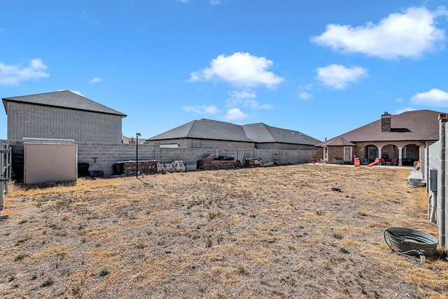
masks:
[[[314,146],[314,144],[320,142],[318,139],[309,137],[302,132],[271,127],[264,123],[243,125],[243,127],[246,136],[257,141],[259,144],[278,142],[283,144],[304,144]]]

